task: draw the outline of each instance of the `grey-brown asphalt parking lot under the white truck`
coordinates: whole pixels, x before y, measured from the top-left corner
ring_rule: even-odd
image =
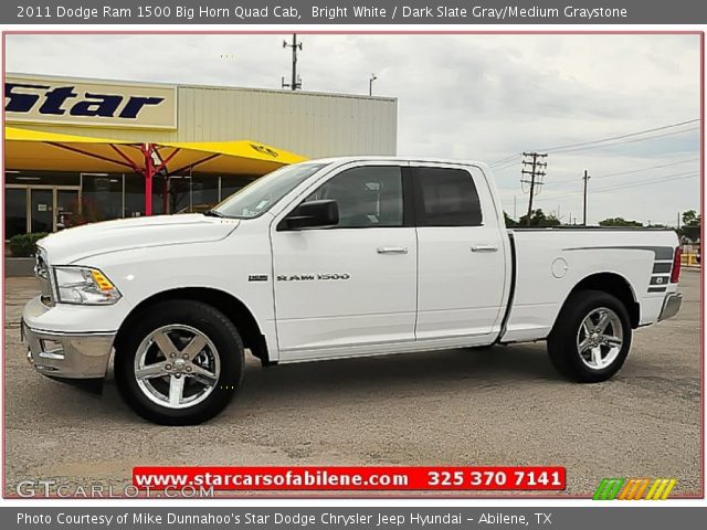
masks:
[[[675,477],[700,495],[699,274],[680,314],[634,335],[623,370],[579,385],[545,344],[261,368],[208,424],[146,423],[109,381],[102,396],[34,373],[18,322],[33,278],[6,280],[4,486],[113,486],[136,465],[562,465],[567,491],[604,477]],[[449,494],[446,494],[449,495]]]

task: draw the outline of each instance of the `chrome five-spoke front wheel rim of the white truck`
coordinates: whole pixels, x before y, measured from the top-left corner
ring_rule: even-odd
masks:
[[[221,373],[213,342],[191,326],[173,324],[149,333],[135,356],[135,379],[143,393],[168,409],[205,400]]]

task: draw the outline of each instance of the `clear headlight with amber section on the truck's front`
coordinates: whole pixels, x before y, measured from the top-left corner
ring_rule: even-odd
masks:
[[[115,304],[120,293],[97,268],[54,267],[56,295],[62,304]]]

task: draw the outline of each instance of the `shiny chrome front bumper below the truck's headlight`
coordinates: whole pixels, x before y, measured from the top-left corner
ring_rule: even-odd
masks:
[[[105,378],[115,333],[73,335],[40,331],[20,324],[27,359],[44,375],[66,379]]]

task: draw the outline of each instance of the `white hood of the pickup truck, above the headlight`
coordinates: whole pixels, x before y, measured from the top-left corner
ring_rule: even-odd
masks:
[[[86,224],[38,242],[52,265],[67,265],[96,254],[130,248],[219,241],[235,230],[236,219],[200,213],[122,219]]]

